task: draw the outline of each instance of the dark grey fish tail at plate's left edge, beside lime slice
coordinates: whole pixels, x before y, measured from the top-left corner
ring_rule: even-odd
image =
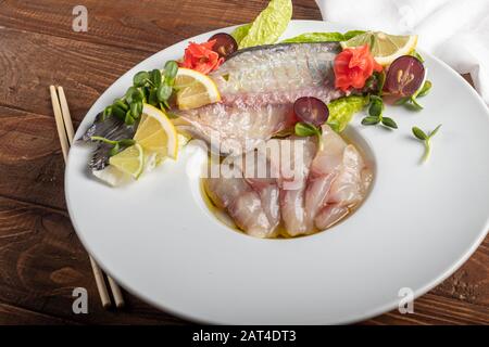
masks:
[[[102,137],[109,140],[133,139],[136,133],[137,124],[126,125],[123,120],[114,116],[103,117],[103,113],[96,116],[93,124],[87,129],[78,141],[93,142],[91,137]],[[98,143],[88,167],[91,170],[103,170],[109,165],[109,152],[112,145],[108,143]]]

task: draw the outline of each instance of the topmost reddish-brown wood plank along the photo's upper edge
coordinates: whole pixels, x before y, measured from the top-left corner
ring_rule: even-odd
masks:
[[[0,3],[0,23],[74,40],[156,52],[185,38],[252,21],[267,0],[112,1],[86,0],[88,31],[72,29],[75,0],[11,1]],[[294,1],[294,18],[321,20],[314,0]]]

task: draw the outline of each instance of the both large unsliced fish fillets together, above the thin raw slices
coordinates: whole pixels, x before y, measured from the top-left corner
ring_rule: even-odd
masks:
[[[218,132],[222,153],[248,152],[293,126],[297,99],[315,97],[327,104],[344,95],[334,82],[339,51],[338,42],[238,51],[209,75],[220,90],[221,103],[175,113],[193,126],[197,137],[209,141],[213,131]],[[233,141],[236,145],[229,144]]]

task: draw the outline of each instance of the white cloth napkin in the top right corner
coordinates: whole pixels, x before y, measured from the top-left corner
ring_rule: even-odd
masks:
[[[489,105],[489,0],[316,0],[323,20],[352,28],[417,34],[418,44],[471,74]]]

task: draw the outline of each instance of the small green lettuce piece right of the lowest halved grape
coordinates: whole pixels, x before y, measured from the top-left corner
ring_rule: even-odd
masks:
[[[337,132],[341,132],[353,118],[369,102],[368,95],[350,95],[331,101],[328,104],[328,125]]]

